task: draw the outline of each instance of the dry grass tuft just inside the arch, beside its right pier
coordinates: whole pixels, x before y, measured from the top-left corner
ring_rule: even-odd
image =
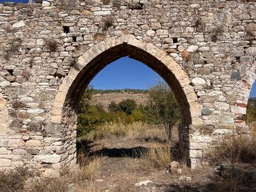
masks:
[[[147,169],[163,168],[172,162],[170,144],[149,144],[149,149],[141,153],[141,164]]]

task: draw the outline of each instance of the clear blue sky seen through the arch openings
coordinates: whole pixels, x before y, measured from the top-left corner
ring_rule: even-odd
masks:
[[[122,89],[138,88],[147,89],[163,79],[145,64],[122,57],[103,68],[91,81],[93,88]],[[256,84],[250,92],[250,97],[256,97]]]

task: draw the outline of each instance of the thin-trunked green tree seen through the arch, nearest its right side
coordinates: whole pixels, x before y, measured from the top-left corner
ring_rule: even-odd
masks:
[[[172,128],[180,122],[181,115],[179,105],[167,84],[159,82],[149,89],[146,111],[149,122],[162,124],[170,139]]]

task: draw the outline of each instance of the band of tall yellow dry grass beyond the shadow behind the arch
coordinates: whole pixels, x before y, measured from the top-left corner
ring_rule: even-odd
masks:
[[[177,133],[174,129],[174,137],[176,138]],[[81,140],[102,140],[105,138],[113,139],[113,137],[127,137],[127,139],[150,141],[155,140],[158,142],[166,142],[167,134],[161,126],[152,124],[145,124],[143,122],[136,122],[134,124],[104,124],[97,130],[91,131],[85,137],[80,138]]]

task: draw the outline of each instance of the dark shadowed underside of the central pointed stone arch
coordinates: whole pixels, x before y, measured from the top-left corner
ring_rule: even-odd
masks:
[[[138,49],[134,46],[128,44],[121,44],[120,46],[115,46],[107,51],[102,52],[98,57],[93,59],[89,64],[86,64],[84,68],[77,75],[73,85],[68,91],[68,95],[65,100],[65,106],[72,106],[75,111],[77,111],[77,105],[80,102],[83,91],[89,85],[89,82],[97,75],[102,68],[111,64],[111,62],[120,59],[121,57],[131,57],[137,61],[152,68],[158,75],[160,75],[166,83],[172,89],[179,105],[181,107],[181,119],[183,124],[191,124],[191,114],[190,106],[186,95],[183,92],[183,88],[179,81],[175,78],[172,71],[165,66],[161,61],[156,59],[156,57],[149,55],[149,53]]]

